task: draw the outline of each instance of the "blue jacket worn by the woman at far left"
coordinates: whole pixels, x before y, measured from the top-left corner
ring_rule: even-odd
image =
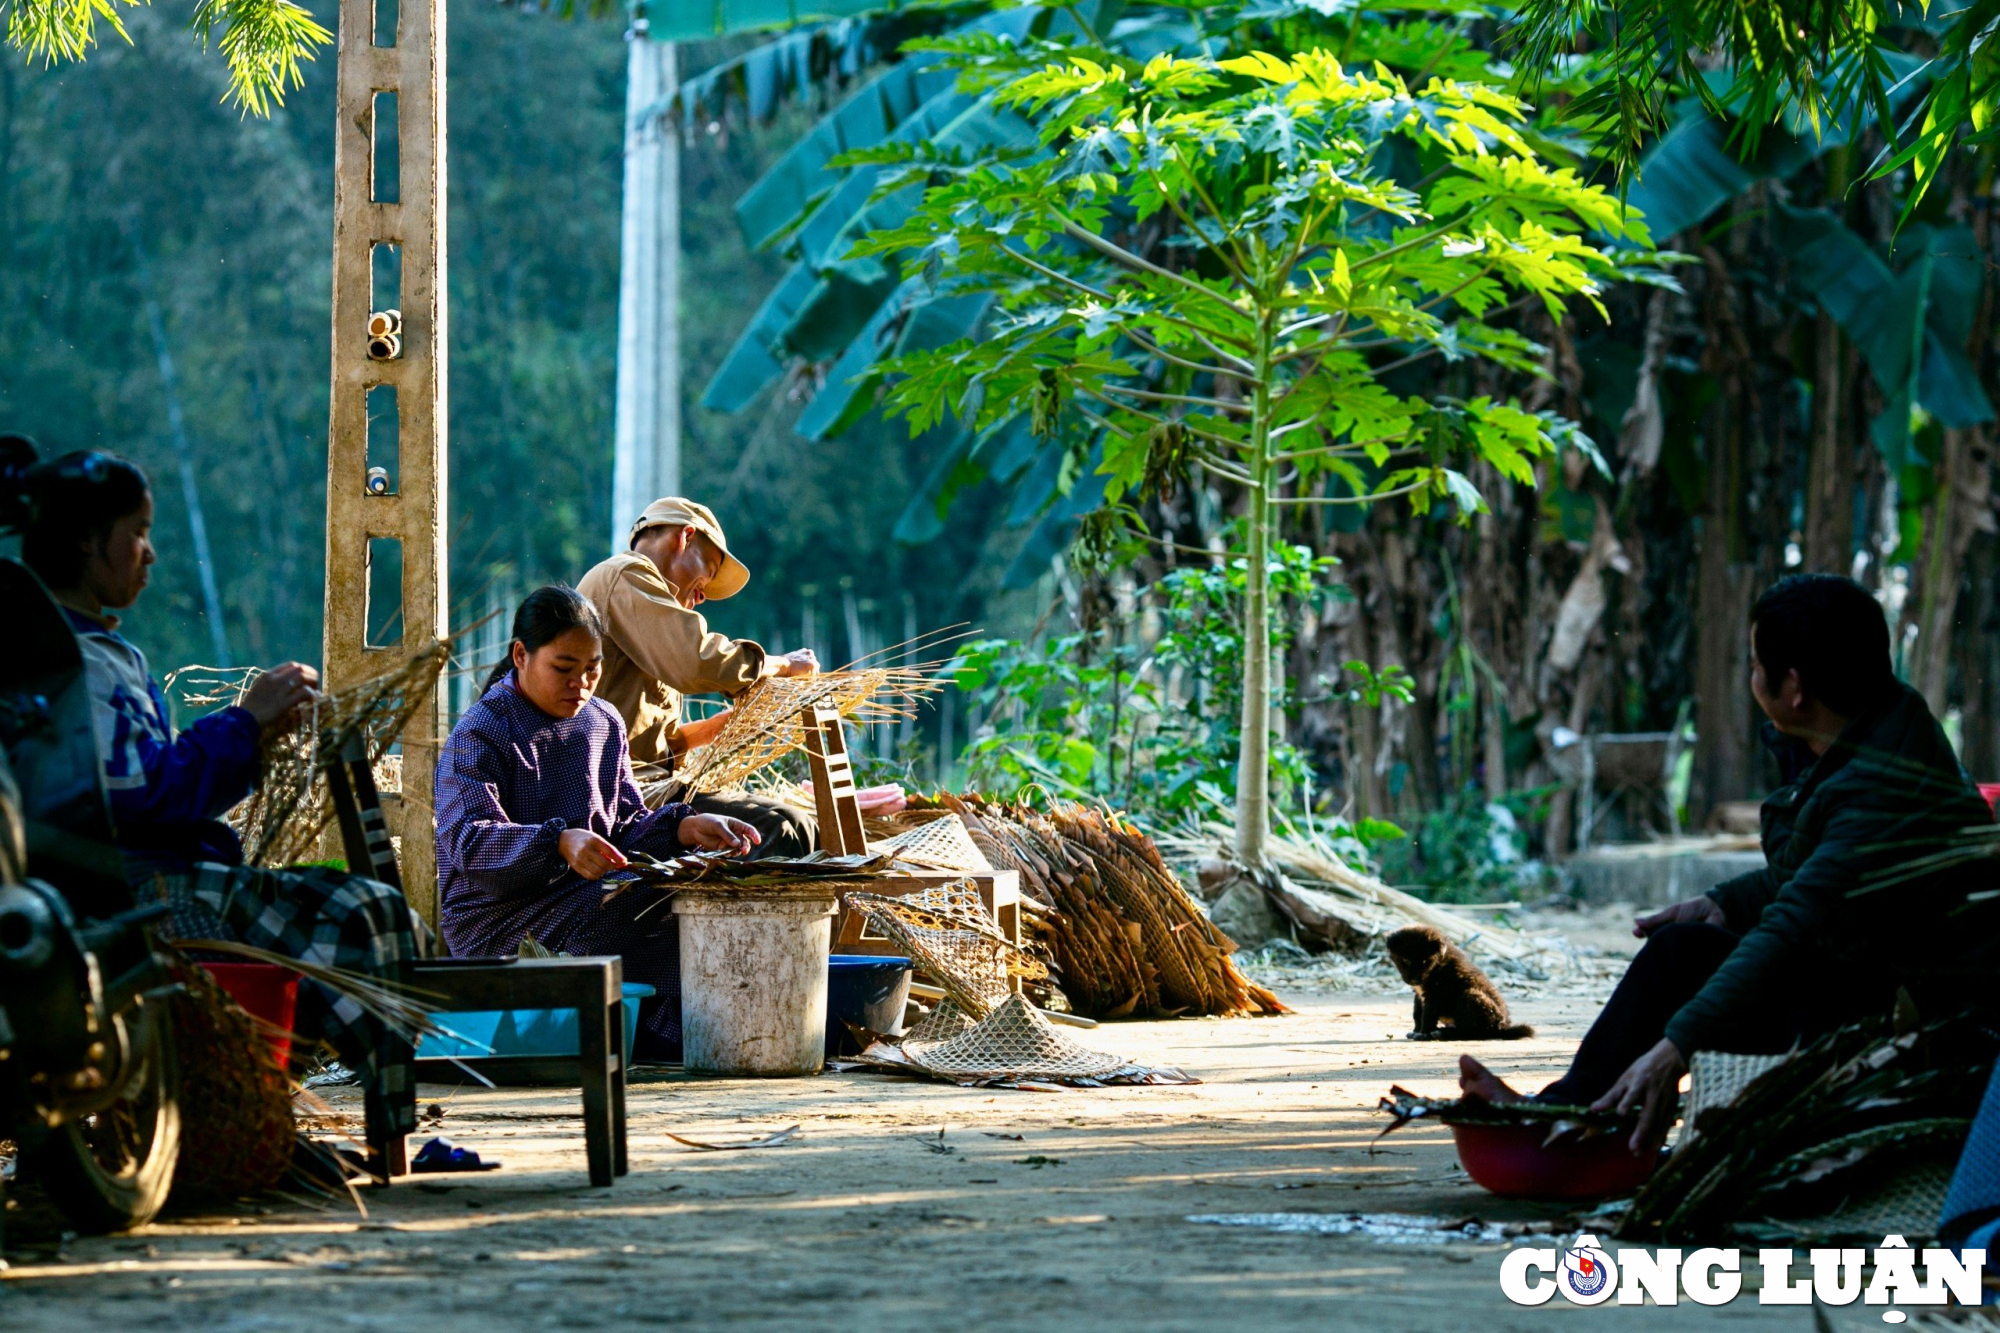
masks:
[[[198,861],[240,865],[242,841],[222,817],[256,789],[256,719],[222,709],[174,735],[146,654],[114,620],[64,614],[84,650],[98,759],[132,877],[172,875]]]

